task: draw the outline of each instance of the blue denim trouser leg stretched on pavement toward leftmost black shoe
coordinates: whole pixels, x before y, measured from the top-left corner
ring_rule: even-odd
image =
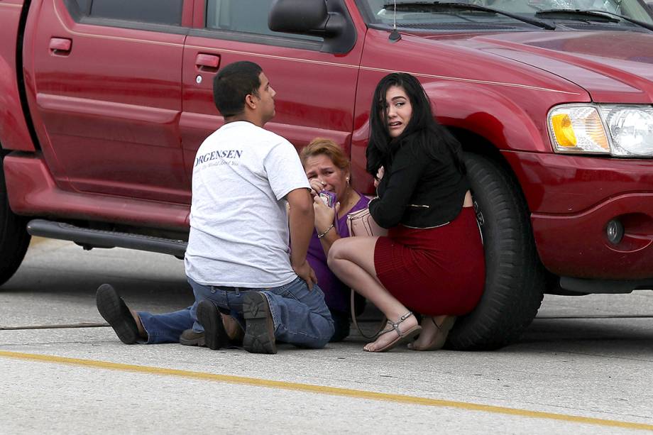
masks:
[[[141,343],[179,343],[179,336],[182,335],[182,332],[193,327],[195,322],[193,316],[196,309],[197,303],[185,309],[165,314],[139,311],[138,317],[141,318],[143,329],[148,333],[148,340]],[[203,330],[200,329],[200,331]]]

